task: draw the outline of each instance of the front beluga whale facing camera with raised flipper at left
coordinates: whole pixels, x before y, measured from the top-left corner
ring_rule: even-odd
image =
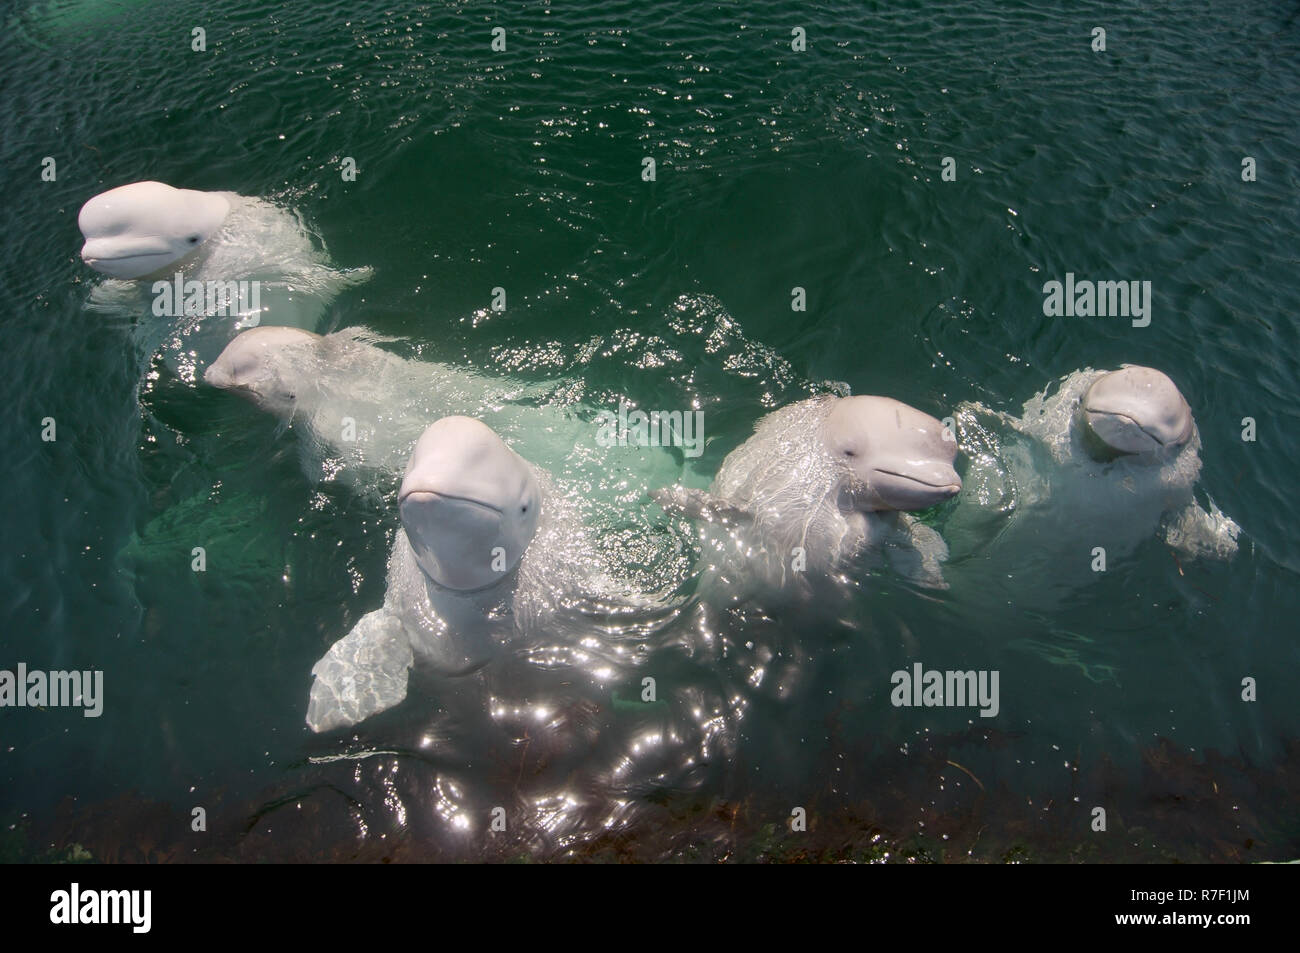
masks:
[[[417,660],[465,672],[538,628],[629,605],[571,502],[477,420],[443,417],[424,432],[398,501],[384,607],[312,668],[312,731],[393,707]]]

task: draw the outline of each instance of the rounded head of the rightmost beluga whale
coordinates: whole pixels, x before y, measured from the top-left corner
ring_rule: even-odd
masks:
[[[1178,386],[1154,368],[1130,365],[1102,374],[1079,404],[1084,443],[1100,460],[1154,459],[1191,439],[1192,410]]]

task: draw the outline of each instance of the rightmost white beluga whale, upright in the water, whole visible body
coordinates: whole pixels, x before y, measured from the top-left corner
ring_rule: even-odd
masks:
[[[1193,494],[1200,433],[1160,371],[1086,368],[1019,417],[962,403],[954,419],[971,465],[944,533],[954,559],[1011,579],[1018,603],[1092,577],[1096,547],[1108,566],[1157,536],[1186,556],[1236,551],[1236,523]]]

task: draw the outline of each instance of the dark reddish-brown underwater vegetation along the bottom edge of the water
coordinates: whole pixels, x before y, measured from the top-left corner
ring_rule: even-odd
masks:
[[[833,725],[832,725],[833,729]],[[208,829],[187,811],[124,793],[99,803],[64,801],[42,820],[5,824],[0,859],[62,863],[173,862],[708,862],[708,863],[1245,863],[1300,855],[1300,740],[1271,764],[1217,751],[1197,754],[1169,738],[1143,748],[1140,770],[1117,770],[1061,753],[1066,771],[1035,790],[1013,787],[1017,738],[974,727],[927,736],[906,750],[878,736],[827,751],[828,780],[798,793],[807,829],[790,829],[789,797],[662,789],[636,805],[634,824],[602,828],[593,805],[573,829],[534,824],[471,836],[429,833],[413,797],[433,766],[413,751],[378,751],[315,766],[296,783],[259,798],[218,800]],[[517,746],[517,777],[540,770],[545,753]],[[958,757],[991,755],[978,774]],[[744,771],[744,764],[736,766]],[[391,803],[367,806],[352,777],[393,777]],[[861,775],[870,774],[871,780]],[[848,796],[844,790],[862,792]],[[1260,792],[1268,789],[1269,798]],[[1096,798],[1112,805],[1106,832],[1089,829]],[[1260,805],[1265,805],[1260,807]],[[425,805],[428,807],[429,805]],[[430,811],[432,814],[432,811]],[[406,816],[406,823],[394,818]],[[582,828],[582,829],[577,829]],[[413,836],[412,836],[413,835]]]

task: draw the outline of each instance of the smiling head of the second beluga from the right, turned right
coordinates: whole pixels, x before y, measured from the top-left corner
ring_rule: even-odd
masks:
[[[956,497],[957,441],[928,413],[888,397],[838,398],[822,424],[831,456],[853,473],[859,510],[924,510]]]

